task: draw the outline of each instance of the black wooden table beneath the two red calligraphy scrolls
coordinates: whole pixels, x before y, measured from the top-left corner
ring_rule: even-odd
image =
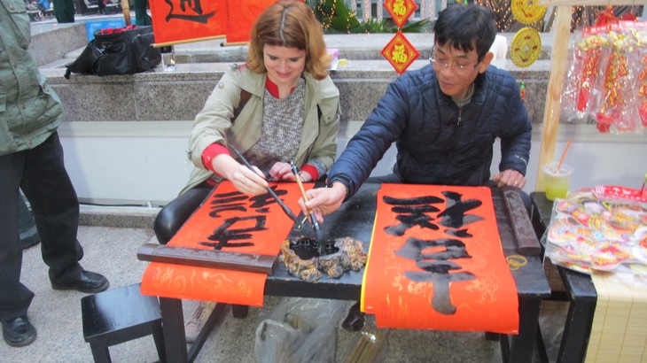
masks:
[[[366,251],[369,243],[375,210],[378,184],[364,184],[355,197],[347,201],[339,211],[326,216],[323,223],[323,236],[332,238],[351,236],[364,241]],[[517,283],[519,334],[516,336],[495,335],[500,338],[503,361],[530,362],[533,359],[535,336],[538,327],[539,310],[542,299],[550,296],[550,286],[543,272],[542,260],[538,253],[518,253],[520,234],[522,238],[534,238],[534,231],[522,228],[515,232],[513,226],[529,225],[528,215],[523,205],[513,205],[514,212],[506,208],[502,189],[492,189],[493,202],[502,247],[506,256],[523,255],[527,263],[512,271]],[[520,199],[518,199],[520,203]],[[523,212],[519,212],[523,211]],[[526,223],[525,223],[526,222]],[[291,236],[300,236],[300,230],[292,229]],[[529,234],[529,235],[528,235]],[[527,252],[527,250],[524,250]],[[322,277],[316,283],[303,282],[287,273],[283,264],[277,264],[274,274],[268,276],[265,295],[280,297],[316,297],[340,300],[359,300],[362,290],[361,272],[350,272],[339,279]],[[225,319],[226,305],[217,304],[205,328],[202,329],[191,350],[186,349],[182,300],[160,297],[162,325],[168,362],[192,362],[198,355],[211,330]],[[233,306],[235,317],[246,316],[246,306]]]

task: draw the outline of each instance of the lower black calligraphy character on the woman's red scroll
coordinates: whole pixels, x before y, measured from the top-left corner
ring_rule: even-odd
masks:
[[[223,248],[253,246],[253,242],[230,243],[230,241],[249,240],[252,238],[251,232],[266,230],[265,219],[264,215],[228,218],[224,220],[220,227],[214,230],[213,235],[207,237],[209,241],[214,242],[199,242],[199,244],[214,247],[216,251],[220,251]],[[253,227],[231,228],[236,223],[245,222],[246,220],[255,220]]]

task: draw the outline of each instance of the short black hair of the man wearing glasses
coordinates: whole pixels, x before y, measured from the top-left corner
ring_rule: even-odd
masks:
[[[453,4],[440,12],[433,26],[433,41],[464,52],[476,46],[482,60],[495,42],[497,29],[495,13],[487,7]]]

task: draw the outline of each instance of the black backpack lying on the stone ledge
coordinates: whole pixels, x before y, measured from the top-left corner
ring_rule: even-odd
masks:
[[[113,75],[149,71],[161,63],[159,48],[153,48],[152,27],[124,27],[119,32],[97,31],[79,58],[66,65],[70,73]]]

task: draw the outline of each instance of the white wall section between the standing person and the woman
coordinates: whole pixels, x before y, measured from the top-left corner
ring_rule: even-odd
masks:
[[[82,203],[163,205],[189,178],[191,121],[64,122],[66,168]]]

